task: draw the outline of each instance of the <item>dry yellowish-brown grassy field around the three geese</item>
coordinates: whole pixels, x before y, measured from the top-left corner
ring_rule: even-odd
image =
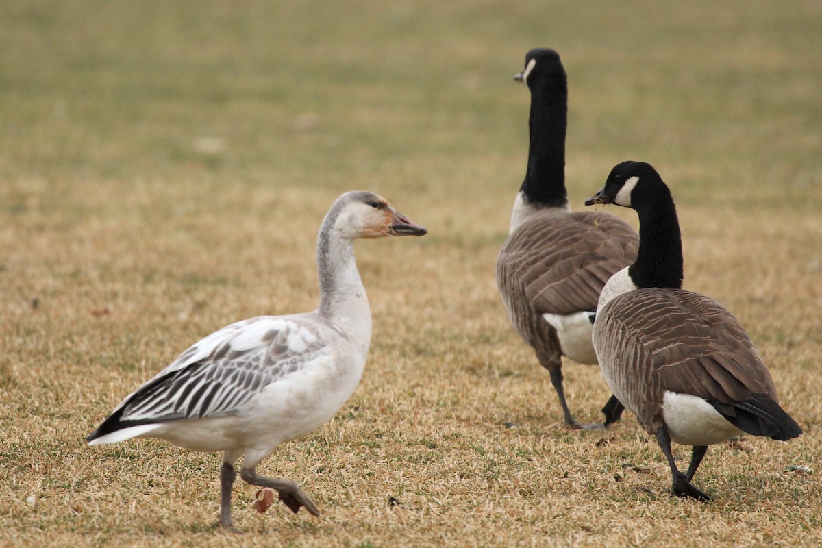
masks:
[[[820,28],[815,0],[0,2],[0,545],[820,546]],[[569,73],[572,205],[653,163],[686,287],[737,314],[806,431],[709,449],[713,504],[667,495],[634,417],[566,429],[501,306],[533,46]],[[238,483],[242,532],[215,530],[218,456],[85,446],[197,338],[316,306],[316,229],[357,188],[430,234],[358,243],[362,384],[258,469],[323,518]],[[598,368],[566,387],[598,420]]]

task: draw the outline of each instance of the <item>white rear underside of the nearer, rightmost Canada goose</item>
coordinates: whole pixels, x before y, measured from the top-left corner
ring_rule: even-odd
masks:
[[[666,391],[663,419],[671,440],[677,444],[718,444],[742,434],[713,405],[690,394]]]

